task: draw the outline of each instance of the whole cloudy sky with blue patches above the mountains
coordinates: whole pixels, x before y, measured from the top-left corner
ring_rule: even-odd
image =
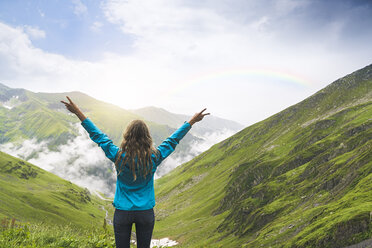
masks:
[[[362,0],[1,0],[0,83],[250,125],[371,64],[371,27]]]

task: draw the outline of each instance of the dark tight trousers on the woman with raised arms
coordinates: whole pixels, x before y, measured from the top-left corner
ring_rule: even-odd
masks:
[[[115,209],[114,232],[117,248],[129,248],[132,225],[136,225],[138,248],[149,248],[154,230],[154,210],[126,211]]]

